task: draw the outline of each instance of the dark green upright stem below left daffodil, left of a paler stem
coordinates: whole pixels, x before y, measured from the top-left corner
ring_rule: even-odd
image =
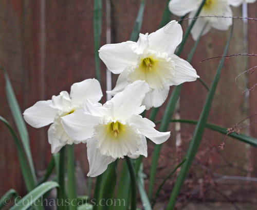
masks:
[[[59,203],[65,204],[65,147],[64,146],[60,151],[60,164],[59,164],[59,171],[58,171],[58,182],[59,182],[59,188],[57,191],[57,199],[59,200]],[[66,210],[65,205],[58,205],[58,210]]]

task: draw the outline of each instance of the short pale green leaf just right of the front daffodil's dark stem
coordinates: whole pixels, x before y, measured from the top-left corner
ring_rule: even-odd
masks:
[[[138,176],[137,176],[137,185],[139,189],[139,194],[141,197],[141,201],[144,207],[144,210],[152,210],[150,201],[148,199],[148,196],[144,190],[144,174],[143,174],[143,164],[141,163],[141,166],[138,171]]]

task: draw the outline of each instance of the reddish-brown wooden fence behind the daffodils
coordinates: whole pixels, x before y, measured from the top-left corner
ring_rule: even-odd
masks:
[[[130,38],[139,3],[138,0],[111,1],[112,43],[127,41]],[[146,2],[142,33],[153,32],[158,29],[165,4],[165,0],[148,0]],[[249,17],[256,18],[257,3],[251,4],[248,8]],[[241,7],[233,8],[234,16],[242,16],[241,10]],[[1,1],[0,65],[8,71],[22,111],[32,106],[36,101],[50,99],[52,95],[58,95],[60,91],[66,90],[69,92],[70,85],[74,82],[96,76],[93,11],[93,0]],[[105,1],[103,1],[101,45],[105,44],[106,40],[105,14]],[[174,18],[177,19],[178,17]],[[183,23],[183,28],[186,28],[186,26],[187,21]],[[250,43],[248,52],[249,54],[257,54],[257,22],[248,21],[248,26],[248,40]],[[212,29],[210,33],[202,38],[201,44],[196,49],[192,65],[208,85],[212,82],[219,59],[200,61],[222,55],[228,34],[229,31]],[[194,42],[190,38],[183,50],[182,58],[186,59],[193,44]],[[245,53],[246,49],[247,42],[243,37],[243,22],[242,20],[235,20],[229,54]],[[256,66],[256,61],[256,57],[251,57],[249,63],[247,63],[247,57],[242,56],[226,60],[208,119],[209,122],[232,127],[247,116],[257,113],[256,90],[249,94],[243,94],[243,91],[234,81],[240,73]],[[103,63],[101,63],[101,74],[102,89],[105,92],[105,66]],[[238,82],[244,89],[247,86],[251,87],[257,83],[256,74],[257,72],[251,75],[244,74],[238,79]],[[0,73],[0,75],[0,115],[14,125],[5,94],[3,73]],[[114,76],[113,78],[113,85],[115,85],[117,77]],[[180,97],[180,117],[198,119],[206,96],[207,91],[199,81],[185,83]],[[103,100],[105,99],[106,97]],[[163,110],[161,113],[163,113]],[[253,123],[256,118],[250,120]],[[170,126],[172,136],[162,147],[159,164],[160,173],[158,173],[157,181],[169,173],[166,165],[175,164],[179,159],[178,157],[185,153],[193,134],[194,126],[183,124],[177,126],[180,126],[181,129],[175,131],[175,126]],[[47,141],[47,129],[34,129],[28,126],[30,146],[37,172],[44,171],[51,158],[50,146]],[[253,124],[250,129],[242,132],[247,132],[256,137],[257,126]],[[181,136],[181,143],[179,143],[179,136]],[[225,149],[220,150],[218,146],[222,143],[223,138],[224,135],[206,130],[194,168],[197,169],[200,164],[210,168],[227,164],[226,167],[221,167],[222,169],[218,170],[219,173],[233,176],[256,176],[256,149],[235,139],[227,138]],[[176,143],[179,145],[178,148]],[[16,148],[9,131],[3,124],[0,126],[0,144],[0,195],[3,195],[10,188],[16,189],[23,195],[26,190]],[[150,144],[150,155],[145,160],[146,174],[149,174],[152,151],[153,145]],[[86,174],[88,170],[86,146],[83,144],[76,145],[76,152],[77,162]],[[234,167],[229,167],[228,163]],[[245,186],[243,182],[237,184],[238,186]],[[170,192],[171,186],[166,187],[167,192]]]

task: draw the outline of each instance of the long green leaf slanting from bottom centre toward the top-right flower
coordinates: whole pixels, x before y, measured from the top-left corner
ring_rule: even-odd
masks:
[[[229,36],[227,45],[225,47],[223,56],[227,55],[230,40],[231,40],[231,37],[232,37],[232,31],[233,31],[233,25],[231,27],[230,36]],[[197,126],[195,128],[194,135],[192,137],[192,141],[190,142],[190,145],[189,145],[189,148],[188,148],[188,151],[187,151],[187,154],[186,154],[187,161],[185,162],[185,164],[183,164],[183,166],[181,168],[181,171],[179,173],[179,176],[177,178],[177,181],[175,183],[175,186],[172,190],[172,194],[171,194],[171,198],[169,200],[168,206],[167,206],[167,210],[168,209],[169,210],[173,209],[173,207],[176,203],[176,199],[177,199],[178,193],[180,191],[180,188],[181,188],[183,182],[185,181],[185,179],[188,175],[190,166],[193,163],[196,152],[198,151],[198,148],[199,148],[199,145],[200,145],[200,142],[201,142],[201,138],[203,137],[203,133],[204,133],[204,130],[205,130],[206,122],[207,122],[207,119],[208,119],[208,116],[209,116],[209,112],[210,112],[210,109],[211,109],[211,104],[212,104],[213,97],[214,97],[214,94],[215,94],[215,91],[216,91],[216,86],[217,86],[217,83],[218,83],[218,80],[219,80],[219,76],[221,75],[221,71],[222,71],[222,68],[223,68],[224,61],[225,61],[225,57],[221,59],[221,61],[219,62],[219,65],[217,67],[217,71],[216,71],[214,80],[212,82],[211,89],[210,89],[209,94],[207,96],[203,111],[201,112],[200,118],[199,118]]]

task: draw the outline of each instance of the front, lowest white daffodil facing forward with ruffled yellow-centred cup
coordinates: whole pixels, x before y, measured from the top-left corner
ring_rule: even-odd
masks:
[[[156,144],[165,142],[170,132],[158,132],[155,124],[139,114],[149,85],[135,81],[117,93],[105,104],[85,100],[83,110],[62,117],[62,125],[75,141],[86,141],[89,172],[96,177],[103,173],[108,164],[125,155],[130,158],[147,156],[145,137]]]

